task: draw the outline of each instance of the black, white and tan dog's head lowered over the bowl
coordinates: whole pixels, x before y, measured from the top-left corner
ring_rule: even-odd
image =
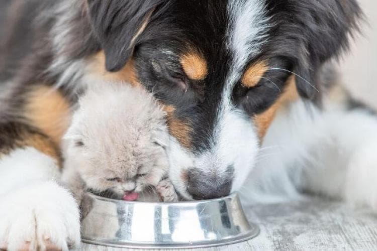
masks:
[[[170,178],[187,199],[240,188],[276,110],[320,99],[317,72],[361,15],[355,0],[87,3],[107,70],[131,67],[165,105]]]

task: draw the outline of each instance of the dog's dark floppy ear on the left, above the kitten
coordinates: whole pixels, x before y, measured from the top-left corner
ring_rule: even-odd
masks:
[[[132,57],[140,35],[161,1],[86,1],[92,29],[105,52],[106,69],[118,71]]]

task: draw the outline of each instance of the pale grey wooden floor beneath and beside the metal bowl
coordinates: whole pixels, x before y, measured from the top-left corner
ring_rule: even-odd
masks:
[[[319,198],[244,209],[248,219],[260,227],[257,237],[238,244],[186,250],[377,249],[377,215],[367,210],[354,211],[340,202]],[[79,250],[140,249],[82,243]]]

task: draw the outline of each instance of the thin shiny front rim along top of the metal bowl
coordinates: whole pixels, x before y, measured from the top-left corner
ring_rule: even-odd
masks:
[[[227,196],[215,198],[215,199],[206,199],[206,200],[187,200],[187,201],[175,201],[175,202],[150,202],[150,201],[128,201],[128,200],[117,200],[117,199],[111,199],[102,197],[93,193],[90,193],[91,197],[95,198],[96,200],[103,200],[103,201],[109,201],[109,202],[117,202],[122,204],[145,204],[145,205],[184,205],[184,204],[201,204],[201,203],[211,203],[211,202],[217,202],[217,201],[223,201],[226,199],[238,199],[239,200],[239,194],[238,192],[232,192]]]

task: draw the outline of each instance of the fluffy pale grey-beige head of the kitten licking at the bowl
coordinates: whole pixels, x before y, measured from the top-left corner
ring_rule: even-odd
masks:
[[[165,113],[125,83],[89,87],[64,139],[66,162],[96,192],[142,192],[168,169]]]

